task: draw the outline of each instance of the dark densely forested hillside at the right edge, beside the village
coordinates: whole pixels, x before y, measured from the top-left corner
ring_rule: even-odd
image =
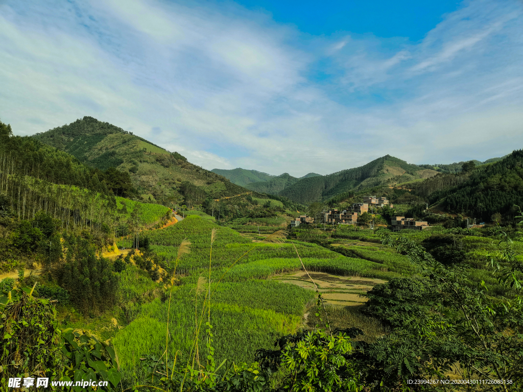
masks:
[[[440,209],[490,222],[501,213],[511,220],[523,207],[523,151],[461,174],[439,174],[412,185],[413,192]]]

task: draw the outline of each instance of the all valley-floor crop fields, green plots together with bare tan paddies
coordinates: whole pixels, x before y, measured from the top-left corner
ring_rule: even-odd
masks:
[[[162,284],[147,283],[136,271],[121,273],[122,292],[126,292],[121,296],[124,305],[121,307],[126,312],[122,322],[127,320],[128,325],[116,331],[113,342],[124,373],[135,372],[142,355],[164,353],[167,329],[170,358],[177,355],[181,361],[190,362],[206,358],[206,327],[203,325],[197,330],[197,326],[203,312],[207,312],[204,304],[209,292],[209,276],[212,283],[210,319],[217,361],[253,361],[256,349],[270,349],[282,335],[301,327],[312,328],[318,321],[310,310],[315,292],[295,248],[319,285],[334,326],[361,328],[367,333],[359,338],[364,340],[386,333],[378,320],[360,312],[365,298],[359,295],[384,280],[415,274],[417,270],[407,257],[382,246],[378,241],[381,233],[372,230],[340,230],[346,236],[331,238],[334,243],[325,245],[336,248],[332,251],[300,240],[253,243],[234,229],[236,226],[257,228],[262,223],[265,228],[275,228],[274,225],[283,222],[279,218],[264,219],[244,218],[226,227],[216,225],[201,213],[147,233],[152,251],[166,269],[174,268],[178,246],[184,239],[190,241],[190,252],[176,265],[178,284],[172,289],[170,311]],[[215,235],[209,270],[212,229]],[[316,232],[323,230],[309,229],[309,233]],[[435,228],[433,232],[404,230],[399,235],[420,242],[431,234],[448,233],[447,229]],[[346,238],[350,236],[357,238]],[[485,258],[488,252],[498,251],[492,239],[460,238],[467,262],[479,263],[477,260]],[[131,243],[123,239],[118,245],[128,247]],[[517,242],[514,247],[518,252],[523,251],[523,243]],[[484,280],[492,294],[499,294],[500,286],[492,281],[492,273],[482,268],[470,268],[468,273],[472,282]],[[205,321],[207,319],[203,324]]]

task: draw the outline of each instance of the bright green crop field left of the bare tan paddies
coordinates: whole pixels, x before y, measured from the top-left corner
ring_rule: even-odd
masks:
[[[204,341],[204,328],[196,333],[195,318],[203,308],[209,276],[211,229],[217,229],[212,244],[211,324],[218,360],[252,361],[255,350],[269,349],[274,340],[294,332],[302,315],[313,303],[314,292],[303,287],[267,280],[284,272],[302,269],[290,243],[252,243],[229,227],[218,227],[199,216],[188,216],[176,225],[149,233],[152,250],[166,266],[173,267],[177,247],[187,238],[190,253],[181,258],[177,273],[181,285],[173,288],[169,321],[169,353],[184,360],[191,348]],[[122,240],[119,246],[130,246]],[[383,264],[350,258],[314,244],[295,242],[305,267],[311,272],[388,279],[399,276]],[[200,282],[198,283],[198,281]],[[218,283],[220,282],[220,283]],[[151,291],[151,287],[146,288]],[[116,333],[114,342],[123,370],[131,370],[140,355],[161,355],[165,350],[168,301],[155,298],[140,305],[130,324]],[[198,343],[200,344],[200,343]],[[206,347],[199,346],[200,358]],[[193,351],[194,352],[194,351]]]

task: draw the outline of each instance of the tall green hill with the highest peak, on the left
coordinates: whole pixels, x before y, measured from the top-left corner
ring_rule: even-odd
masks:
[[[166,205],[201,204],[247,192],[228,179],[187,162],[187,159],[92,117],[33,136],[38,141],[72,154],[98,169],[117,168],[130,175],[145,200]]]

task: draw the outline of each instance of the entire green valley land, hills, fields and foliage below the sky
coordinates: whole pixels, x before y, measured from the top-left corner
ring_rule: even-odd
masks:
[[[359,390],[521,383],[521,151],[459,170],[386,155],[295,178],[208,171],[88,117],[34,138],[0,123],[0,139],[9,376],[277,391],[294,382],[284,359],[312,339]],[[354,222],[328,222],[355,205]],[[427,227],[395,231],[398,216]],[[96,360],[76,362],[82,347]]]

